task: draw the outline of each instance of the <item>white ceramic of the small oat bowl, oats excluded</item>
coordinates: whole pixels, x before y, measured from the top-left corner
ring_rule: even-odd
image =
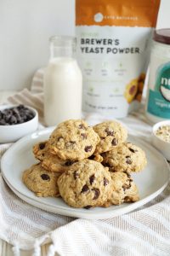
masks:
[[[161,154],[163,154],[165,158],[170,161],[170,143],[167,143],[161,140],[160,137],[156,136],[156,131],[159,129],[159,127],[164,125],[170,125],[170,120],[161,121],[153,126],[151,140],[154,147],[156,147]]]

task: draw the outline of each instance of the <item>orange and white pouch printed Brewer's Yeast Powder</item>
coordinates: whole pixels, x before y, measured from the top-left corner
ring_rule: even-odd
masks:
[[[76,0],[83,110],[122,118],[140,101],[160,0]]]

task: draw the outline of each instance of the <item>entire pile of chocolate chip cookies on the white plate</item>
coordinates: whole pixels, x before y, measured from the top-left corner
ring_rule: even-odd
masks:
[[[144,151],[127,143],[116,121],[90,127],[84,120],[59,124],[48,141],[34,145],[37,165],[23,182],[37,196],[61,196],[71,207],[109,207],[139,200],[131,172],[146,165]]]

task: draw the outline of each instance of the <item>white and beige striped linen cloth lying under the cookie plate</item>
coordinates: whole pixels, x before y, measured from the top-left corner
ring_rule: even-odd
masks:
[[[37,108],[42,119],[43,70],[32,80],[31,91],[23,90],[8,98]],[[99,114],[86,116],[90,125],[102,121]],[[150,142],[151,126],[142,111],[123,119],[128,131]],[[0,145],[0,156],[10,144]],[[14,170],[11,170],[14,172]],[[161,172],[161,170],[160,170]],[[51,242],[47,256],[168,256],[170,255],[170,183],[144,207],[116,218],[87,220],[70,218],[32,207],[4,183],[0,176],[0,238],[13,244],[14,255],[20,249],[41,253],[42,243]],[[55,255],[56,255],[55,254]]]

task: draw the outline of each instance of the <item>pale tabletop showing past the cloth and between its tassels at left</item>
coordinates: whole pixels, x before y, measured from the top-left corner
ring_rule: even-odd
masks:
[[[5,102],[8,96],[14,94],[14,91],[0,91],[0,104]],[[14,256],[12,245],[8,242],[0,239],[0,256]],[[41,247],[41,256],[47,256],[49,245],[44,245]],[[32,251],[21,251],[20,256],[31,256]]]

